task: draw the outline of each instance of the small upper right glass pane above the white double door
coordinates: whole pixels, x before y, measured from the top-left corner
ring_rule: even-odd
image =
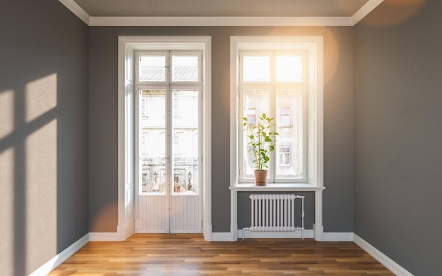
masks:
[[[172,56],[172,82],[198,82],[198,56]]]

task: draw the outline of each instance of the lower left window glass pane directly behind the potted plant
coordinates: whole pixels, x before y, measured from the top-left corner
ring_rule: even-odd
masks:
[[[270,115],[270,91],[268,89],[244,89],[243,90],[243,117],[247,118],[248,123],[256,124],[263,113]],[[241,121],[242,123],[242,121]],[[241,124],[242,125],[242,124]],[[250,139],[247,132],[243,130],[243,172],[244,179],[254,179],[253,152],[250,151]],[[270,175],[270,174],[268,174]]]

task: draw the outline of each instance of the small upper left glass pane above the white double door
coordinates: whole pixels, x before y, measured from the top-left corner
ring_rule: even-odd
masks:
[[[165,82],[166,56],[140,56],[139,81]]]

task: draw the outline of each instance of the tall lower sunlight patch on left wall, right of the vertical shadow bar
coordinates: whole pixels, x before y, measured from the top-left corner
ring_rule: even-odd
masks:
[[[25,140],[26,250],[28,256],[54,256],[57,234],[57,120]],[[27,265],[32,265],[27,263]]]

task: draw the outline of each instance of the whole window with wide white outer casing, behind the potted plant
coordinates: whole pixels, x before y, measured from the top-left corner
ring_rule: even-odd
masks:
[[[231,37],[231,179],[252,183],[242,118],[275,118],[268,183],[322,185],[322,37]]]

